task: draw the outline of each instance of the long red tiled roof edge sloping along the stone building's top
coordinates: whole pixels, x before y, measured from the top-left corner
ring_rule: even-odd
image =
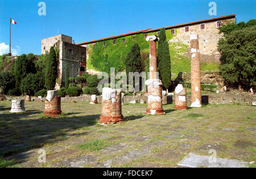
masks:
[[[226,16],[220,16],[220,17],[212,18],[212,19],[198,20],[198,21],[195,21],[195,22],[189,22],[189,23],[184,23],[184,24],[171,25],[171,26],[167,26],[167,27],[164,27],[164,28],[165,28],[165,29],[168,29],[168,28],[186,26],[186,25],[197,24],[197,23],[204,23],[204,22],[209,22],[209,21],[213,21],[213,20],[220,20],[220,19],[226,19],[226,18],[236,18],[236,14],[226,15]],[[130,32],[130,33],[123,33],[123,34],[117,35],[117,36],[105,37],[105,38],[102,38],[102,39],[97,39],[97,40],[82,42],[82,43],[79,43],[79,44],[76,44],[76,45],[90,44],[90,43],[92,43],[92,42],[97,42],[97,41],[106,40],[106,39],[114,39],[114,38],[116,38],[116,37],[122,37],[122,36],[127,36],[127,35],[133,35],[133,34],[135,34],[135,33],[154,32],[154,31],[159,31],[160,29],[161,29],[161,28],[155,28],[155,29],[148,28],[148,29],[144,29],[144,30],[141,30],[141,31],[135,31],[135,32]]]

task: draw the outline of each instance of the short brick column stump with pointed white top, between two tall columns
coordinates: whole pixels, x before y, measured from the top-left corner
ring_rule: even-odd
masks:
[[[175,106],[174,109],[188,109],[187,106],[187,90],[182,84],[178,84],[175,88]]]

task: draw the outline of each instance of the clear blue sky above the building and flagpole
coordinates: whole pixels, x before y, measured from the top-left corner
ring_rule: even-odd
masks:
[[[209,15],[209,2],[217,15]],[[46,16],[39,16],[39,2]],[[41,40],[63,33],[76,43],[146,28],[237,15],[237,23],[255,17],[255,0],[0,0],[0,54],[9,49],[9,18],[13,53],[41,53]]]

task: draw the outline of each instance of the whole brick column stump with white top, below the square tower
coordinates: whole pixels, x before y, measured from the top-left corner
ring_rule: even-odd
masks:
[[[44,103],[44,115],[57,117],[61,114],[61,97],[57,90],[47,91],[46,101]]]

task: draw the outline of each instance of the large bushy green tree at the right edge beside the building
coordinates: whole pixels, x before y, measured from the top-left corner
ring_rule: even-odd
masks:
[[[220,71],[231,85],[248,89],[256,85],[256,25],[235,30],[218,41]]]

